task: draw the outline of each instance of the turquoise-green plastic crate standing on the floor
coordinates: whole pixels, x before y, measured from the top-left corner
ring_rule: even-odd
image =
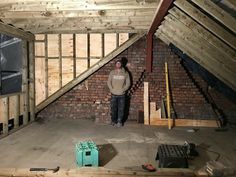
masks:
[[[75,145],[75,158],[78,167],[98,167],[98,149],[93,141],[84,141]]]

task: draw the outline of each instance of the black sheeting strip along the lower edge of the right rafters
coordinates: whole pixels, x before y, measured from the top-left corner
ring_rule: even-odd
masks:
[[[229,100],[236,104],[236,92],[227,86],[225,83],[220,81],[213,74],[208,72],[205,68],[195,62],[191,57],[184,54],[179,48],[175,45],[170,44],[172,51],[177,54],[184,62],[184,65],[191,70],[193,73],[200,75],[209,86],[216,88],[219,92],[223,93]]]

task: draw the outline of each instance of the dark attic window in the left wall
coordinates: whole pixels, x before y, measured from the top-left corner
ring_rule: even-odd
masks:
[[[0,95],[21,92],[21,39],[0,34]]]

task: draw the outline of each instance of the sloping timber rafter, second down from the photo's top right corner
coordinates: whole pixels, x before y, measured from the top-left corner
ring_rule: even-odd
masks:
[[[196,5],[198,5],[201,9],[206,11],[208,14],[213,16],[231,31],[236,33],[236,20],[222,8],[217,6],[215,3],[209,0],[191,0]]]

